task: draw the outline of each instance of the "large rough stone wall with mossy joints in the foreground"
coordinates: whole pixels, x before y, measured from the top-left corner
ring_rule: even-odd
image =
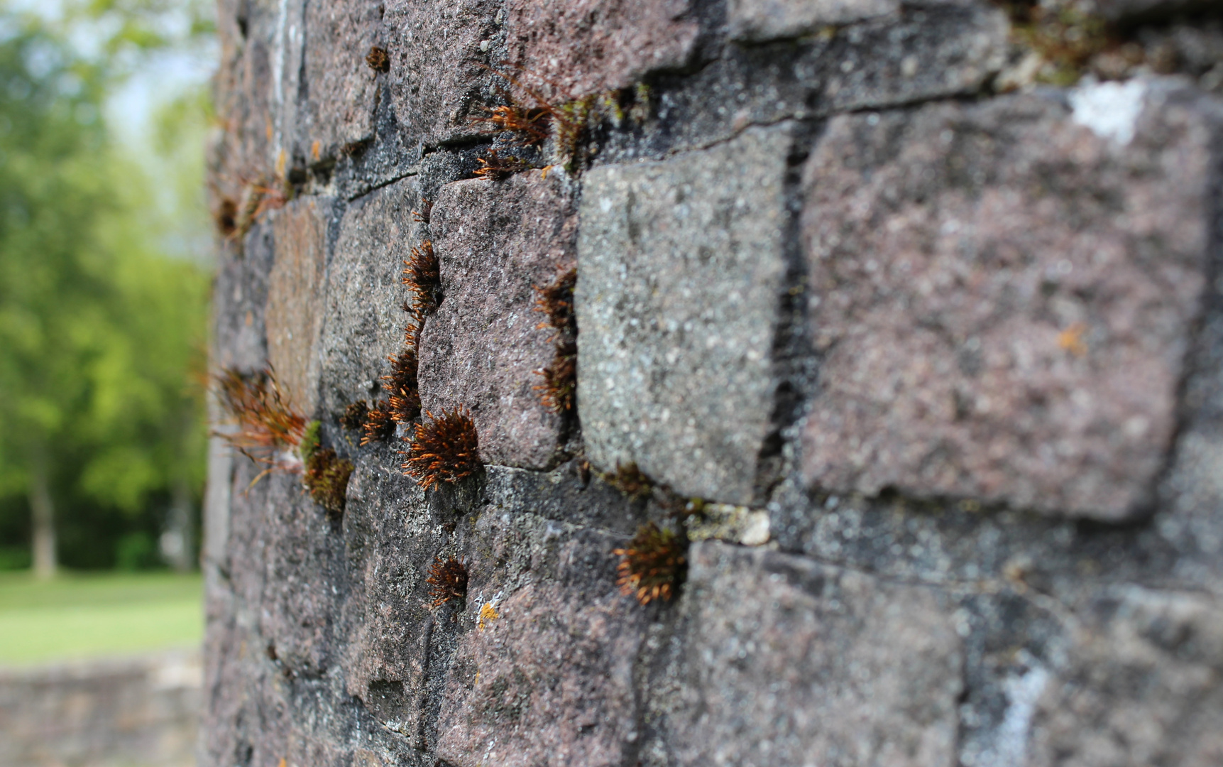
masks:
[[[219,18],[214,366],[355,471],[215,442],[202,765],[1223,763],[1216,4]]]

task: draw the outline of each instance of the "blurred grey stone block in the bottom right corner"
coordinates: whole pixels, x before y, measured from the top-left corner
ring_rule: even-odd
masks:
[[[1128,587],[1096,607],[1036,702],[1024,763],[1223,763],[1217,602]]]

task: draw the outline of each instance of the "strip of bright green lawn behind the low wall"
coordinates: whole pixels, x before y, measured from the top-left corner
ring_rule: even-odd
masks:
[[[0,665],[191,647],[203,635],[198,575],[0,574]]]

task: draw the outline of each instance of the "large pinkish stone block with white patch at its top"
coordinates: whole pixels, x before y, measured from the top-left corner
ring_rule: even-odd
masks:
[[[804,473],[1120,520],[1205,285],[1221,109],[1166,81],[835,117],[805,170]]]

